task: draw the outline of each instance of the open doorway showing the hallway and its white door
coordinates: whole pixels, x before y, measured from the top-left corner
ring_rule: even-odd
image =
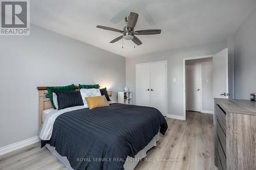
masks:
[[[213,113],[212,57],[185,61],[186,110]]]

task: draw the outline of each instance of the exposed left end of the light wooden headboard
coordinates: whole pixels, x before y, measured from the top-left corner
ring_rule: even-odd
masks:
[[[47,87],[37,87],[39,91],[39,127],[42,124],[42,111],[53,108],[50,98],[47,98]],[[76,91],[79,91],[79,86],[76,86]]]

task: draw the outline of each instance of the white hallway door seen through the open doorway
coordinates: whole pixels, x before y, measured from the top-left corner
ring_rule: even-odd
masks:
[[[201,112],[201,66],[187,65],[187,110]]]

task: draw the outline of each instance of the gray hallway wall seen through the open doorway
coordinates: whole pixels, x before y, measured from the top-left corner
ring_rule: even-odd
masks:
[[[186,65],[201,64],[202,76],[202,110],[214,111],[214,96],[213,96],[213,72],[212,72],[212,57],[196,60],[187,60]],[[208,80],[208,82],[206,82]],[[187,91],[188,92],[188,91]],[[187,101],[189,102],[189,101]]]

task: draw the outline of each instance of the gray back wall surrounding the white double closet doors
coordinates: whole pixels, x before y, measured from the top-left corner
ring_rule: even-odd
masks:
[[[183,59],[216,54],[225,47],[226,41],[223,41],[153,53],[136,58],[126,58],[126,86],[130,87],[134,91],[134,96],[136,96],[135,65],[167,60],[168,114],[183,116]],[[176,82],[173,82],[173,78],[176,78]],[[133,102],[136,104],[135,98]]]

